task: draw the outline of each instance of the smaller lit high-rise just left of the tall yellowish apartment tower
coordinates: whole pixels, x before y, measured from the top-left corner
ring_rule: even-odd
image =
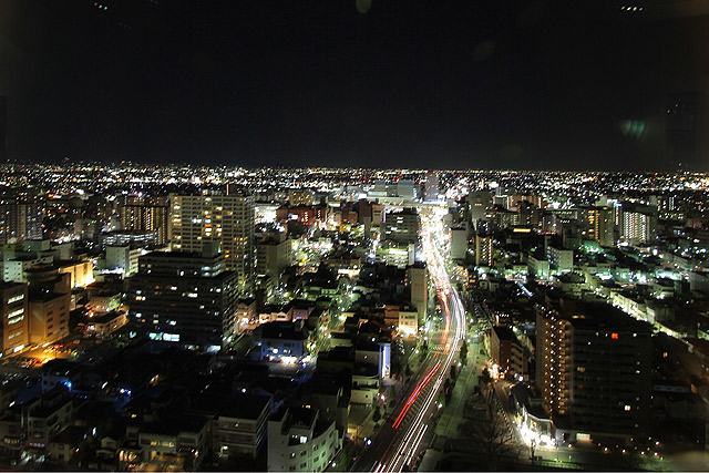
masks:
[[[157,245],[169,241],[169,205],[167,197],[135,198],[121,207],[121,227],[131,232],[150,232]]]

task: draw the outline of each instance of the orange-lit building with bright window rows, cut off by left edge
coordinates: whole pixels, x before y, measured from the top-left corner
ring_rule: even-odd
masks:
[[[30,313],[27,285],[0,282],[2,302],[2,356],[22,350],[30,343]]]

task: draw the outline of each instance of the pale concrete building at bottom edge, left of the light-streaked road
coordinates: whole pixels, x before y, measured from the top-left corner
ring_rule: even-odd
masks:
[[[268,421],[269,472],[321,472],[342,445],[335,421],[319,411],[291,407]]]

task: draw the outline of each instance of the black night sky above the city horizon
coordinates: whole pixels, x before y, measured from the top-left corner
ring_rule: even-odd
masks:
[[[8,155],[672,168],[666,96],[695,85],[668,58],[689,40],[619,4],[0,0]]]

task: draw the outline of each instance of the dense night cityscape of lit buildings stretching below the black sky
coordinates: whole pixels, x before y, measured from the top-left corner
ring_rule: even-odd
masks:
[[[0,466],[707,470],[708,185],[0,165]]]

